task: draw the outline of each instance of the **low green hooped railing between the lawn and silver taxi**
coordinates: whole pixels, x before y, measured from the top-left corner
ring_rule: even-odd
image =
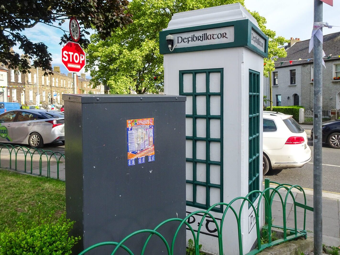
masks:
[[[19,158],[19,157],[23,158]],[[39,167],[33,167],[33,159],[39,158]],[[64,161],[62,161],[64,159]],[[9,160],[9,163],[4,166],[3,161]],[[15,160],[13,163],[12,161]],[[23,161],[23,169],[19,169],[18,163]],[[55,163],[55,164],[54,164]],[[46,176],[60,180],[60,166],[65,163],[65,154],[61,152],[53,152],[51,150],[43,150],[36,148],[28,148],[20,145],[11,145],[0,143],[0,168],[11,169],[18,172]],[[56,175],[51,175],[51,166],[56,166]],[[43,173],[43,168],[46,168],[46,173]]]

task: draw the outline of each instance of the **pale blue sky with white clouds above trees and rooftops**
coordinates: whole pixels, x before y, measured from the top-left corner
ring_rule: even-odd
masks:
[[[245,6],[250,11],[257,11],[261,16],[265,17],[267,19],[267,28],[276,31],[277,36],[283,36],[286,39],[290,37],[300,38],[301,40],[310,39],[313,26],[313,0],[245,0]],[[323,21],[332,26],[339,26],[331,29],[324,28],[324,35],[340,31],[339,13],[339,0],[334,0],[333,7],[323,4]],[[66,21],[62,26],[66,31],[68,31],[68,23]],[[26,29],[23,34],[34,43],[40,41],[45,43],[52,54],[52,66],[58,65],[62,73],[67,73],[66,68],[61,63],[62,46],[59,45],[60,37],[63,33],[58,28],[38,23],[33,28]],[[86,37],[89,38],[88,35]],[[14,51],[22,53],[19,46],[14,47]],[[80,73],[83,72],[85,72],[84,69]],[[89,73],[86,73],[86,77],[90,78]]]

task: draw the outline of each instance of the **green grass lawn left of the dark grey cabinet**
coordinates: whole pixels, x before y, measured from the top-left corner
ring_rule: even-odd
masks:
[[[65,212],[65,182],[0,169],[0,232],[14,229],[20,216],[30,224],[51,211]]]

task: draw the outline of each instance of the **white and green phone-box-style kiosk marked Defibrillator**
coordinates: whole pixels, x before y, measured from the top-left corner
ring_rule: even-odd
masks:
[[[159,48],[164,54],[165,94],[187,97],[187,215],[261,190],[263,58],[268,56],[268,38],[255,18],[239,3],[176,13],[160,32]],[[258,204],[258,194],[249,198]],[[233,204],[236,211],[240,204]],[[224,209],[218,206],[212,212],[218,222]],[[201,219],[188,219],[194,231]],[[254,211],[248,203],[240,222],[246,253],[256,241]],[[223,225],[224,250],[238,254],[231,210]],[[190,238],[187,230],[187,241]],[[218,254],[217,229],[209,217],[199,242],[203,251]]]

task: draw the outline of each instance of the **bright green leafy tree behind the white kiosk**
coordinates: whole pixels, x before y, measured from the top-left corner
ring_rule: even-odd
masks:
[[[133,23],[117,28],[111,37],[101,40],[99,34],[90,37],[87,49],[87,70],[92,77],[92,85],[107,84],[111,93],[137,94],[157,93],[163,90],[163,56],[159,54],[159,31],[168,26],[174,13],[196,10],[244,0],[132,0],[129,12]],[[278,46],[285,43],[283,37],[275,37],[275,32],[266,28],[266,19],[252,12],[262,31],[269,37],[269,60],[272,56],[285,56]],[[265,59],[265,75],[273,64]]]

